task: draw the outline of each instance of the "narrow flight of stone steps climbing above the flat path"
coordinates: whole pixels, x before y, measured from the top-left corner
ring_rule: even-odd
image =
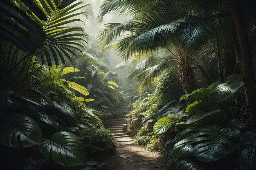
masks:
[[[106,129],[109,130],[114,138],[122,138],[122,137],[132,137],[132,135],[128,135],[124,129],[123,125],[125,123],[126,115],[131,111],[131,107],[128,102],[122,104],[122,106],[118,109],[118,113],[113,116],[111,119],[106,121]]]

